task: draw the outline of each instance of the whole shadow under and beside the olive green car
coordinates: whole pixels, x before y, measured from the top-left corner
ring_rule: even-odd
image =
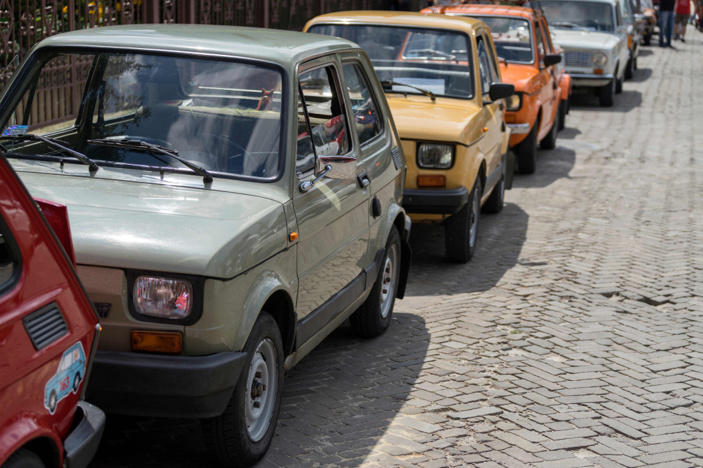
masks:
[[[257,467],[357,466],[402,408],[422,368],[425,320],[394,313],[381,337],[362,339],[348,322],[288,372],[271,449]],[[108,415],[91,468],[221,467],[197,420]]]

